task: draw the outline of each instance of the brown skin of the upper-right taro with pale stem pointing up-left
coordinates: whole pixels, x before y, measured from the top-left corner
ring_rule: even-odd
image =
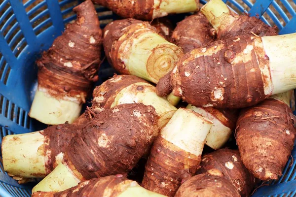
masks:
[[[235,20],[232,24],[230,24],[227,28],[221,29],[217,33],[218,39],[238,36],[238,35],[252,35],[253,33],[262,36],[270,36],[270,35],[277,35],[278,28],[277,27],[270,27],[266,25],[263,21],[256,17],[249,17],[247,15],[237,15],[234,13],[237,20]]]

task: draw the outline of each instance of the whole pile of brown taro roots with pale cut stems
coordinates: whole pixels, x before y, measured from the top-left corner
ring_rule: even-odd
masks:
[[[101,30],[94,4],[119,20]],[[282,176],[296,34],[222,0],[86,0],[74,12],[36,62],[30,116],[48,128],[2,141],[10,176],[43,178],[34,197],[248,197]],[[103,61],[116,74],[94,87]]]

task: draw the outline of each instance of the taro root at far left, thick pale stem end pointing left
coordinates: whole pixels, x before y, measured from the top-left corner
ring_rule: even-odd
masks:
[[[2,139],[4,170],[14,179],[45,177],[63,160],[66,145],[81,128],[70,124]]]

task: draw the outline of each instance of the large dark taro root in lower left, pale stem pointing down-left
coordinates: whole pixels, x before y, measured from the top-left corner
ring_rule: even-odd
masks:
[[[92,113],[94,118],[72,138],[63,162],[33,192],[59,192],[86,179],[124,174],[154,139],[157,115],[152,106],[121,104]]]

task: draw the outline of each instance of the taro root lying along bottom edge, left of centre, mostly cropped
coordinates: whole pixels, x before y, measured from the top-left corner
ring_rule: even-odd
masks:
[[[122,174],[94,178],[63,192],[35,192],[32,197],[164,197],[142,188]]]

